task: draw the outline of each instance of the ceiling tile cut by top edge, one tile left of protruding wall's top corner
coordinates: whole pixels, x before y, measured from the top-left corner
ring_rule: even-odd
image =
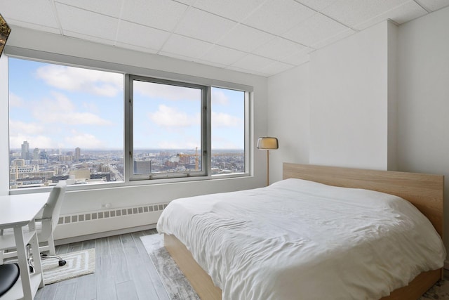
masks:
[[[409,0],[338,0],[323,9],[322,13],[344,25],[355,27],[407,1]]]

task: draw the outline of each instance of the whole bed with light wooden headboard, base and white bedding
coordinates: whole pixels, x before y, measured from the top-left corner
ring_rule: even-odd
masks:
[[[283,179],[163,211],[201,299],[417,299],[442,277],[443,176],[284,163]]]

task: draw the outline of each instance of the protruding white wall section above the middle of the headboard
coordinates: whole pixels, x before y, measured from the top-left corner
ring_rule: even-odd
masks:
[[[389,29],[382,22],[311,53],[311,164],[387,169]]]

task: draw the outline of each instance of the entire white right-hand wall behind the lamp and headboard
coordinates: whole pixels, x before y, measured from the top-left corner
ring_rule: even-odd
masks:
[[[309,129],[310,143],[307,134],[284,143],[309,143],[311,164],[443,174],[448,190],[448,28],[449,8],[397,28],[383,22],[316,51],[306,64],[311,79],[298,75],[305,65],[270,77],[269,133]],[[301,101],[310,103],[310,127],[298,124],[302,111],[295,100],[279,102],[298,86],[307,91],[308,81],[310,98]],[[281,143],[278,153],[304,163],[295,148],[282,150]],[[444,213],[449,215],[449,193]]]

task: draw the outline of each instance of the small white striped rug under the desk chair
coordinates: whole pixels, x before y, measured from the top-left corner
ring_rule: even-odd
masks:
[[[95,273],[95,249],[86,249],[60,255],[67,263],[59,266],[58,259],[42,259],[43,283],[60,282]]]

